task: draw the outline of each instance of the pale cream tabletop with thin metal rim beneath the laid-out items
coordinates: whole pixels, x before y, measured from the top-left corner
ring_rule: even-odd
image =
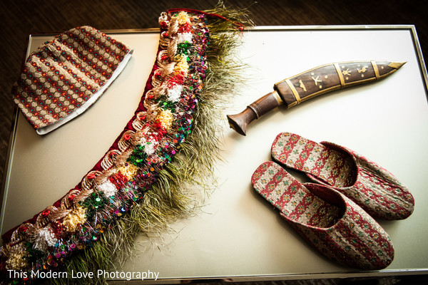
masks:
[[[46,136],[16,114],[4,179],[1,233],[24,222],[78,184],[132,117],[155,61],[158,30],[111,31],[135,49],[131,61],[86,113]],[[28,54],[51,35],[29,38]],[[315,279],[428,273],[427,73],[414,26],[257,27],[243,33],[239,56],[248,85],[225,114],[272,91],[274,83],[325,63],[407,61],[382,81],[335,91],[295,108],[277,108],[250,125],[246,137],[225,126],[215,175],[218,188],[195,217],[171,225],[163,239],[141,237],[125,272],[158,279]],[[394,261],[381,271],[337,265],[307,245],[251,187],[283,131],[350,147],[378,162],[411,190],[414,213],[379,221],[392,238]]]

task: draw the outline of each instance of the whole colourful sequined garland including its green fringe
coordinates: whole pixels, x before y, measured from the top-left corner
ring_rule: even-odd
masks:
[[[221,130],[213,113],[240,83],[241,66],[230,53],[243,17],[221,4],[161,14],[156,63],[134,117],[78,186],[14,229],[1,247],[2,282],[41,281],[9,278],[10,271],[111,268],[128,257],[137,234],[165,229],[193,211],[183,185],[203,181],[218,155]]]

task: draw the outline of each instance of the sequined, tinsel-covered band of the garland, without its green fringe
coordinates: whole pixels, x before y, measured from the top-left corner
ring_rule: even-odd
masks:
[[[1,248],[1,269],[51,270],[91,246],[140,201],[191,133],[203,88],[209,31],[204,14],[163,13],[151,89],[103,159],[60,205],[25,222]]]

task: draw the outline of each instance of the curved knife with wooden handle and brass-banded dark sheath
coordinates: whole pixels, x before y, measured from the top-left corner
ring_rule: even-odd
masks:
[[[405,62],[352,61],[312,68],[276,83],[273,91],[248,105],[243,112],[228,115],[230,128],[245,135],[248,125],[273,108],[291,108],[305,100],[332,90],[377,81],[394,73]]]

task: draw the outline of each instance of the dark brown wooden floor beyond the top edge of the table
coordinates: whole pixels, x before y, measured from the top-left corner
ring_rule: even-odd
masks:
[[[424,1],[224,2],[225,6],[248,7],[251,18],[258,26],[412,24],[416,26],[423,53],[428,52],[428,21]],[[6,162],[14,114],[11,86],[19,76],[24,61],[26,38],[30,33],[66,31],[82,25],[100,30],[157,28],[158,16],[162,11],[177,7],[210,9],[217,4],[217,0],[2,0],[1,3],[0,178],[4,175],[3,165]],[[397,44],[399,43],[391,42],[391,45]]]

